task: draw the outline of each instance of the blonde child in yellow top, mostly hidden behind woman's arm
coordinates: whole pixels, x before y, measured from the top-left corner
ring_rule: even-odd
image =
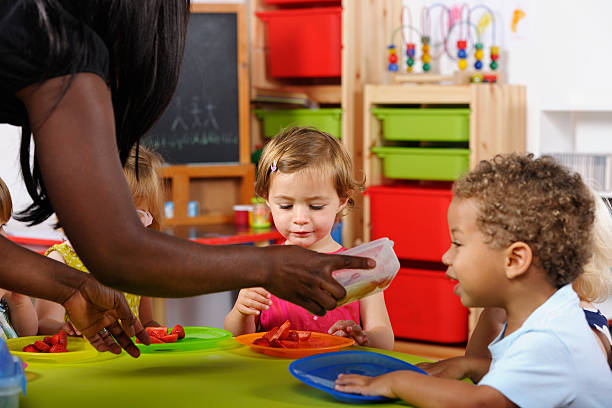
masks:
[[[138,167],[136,167],[136,152],[138,152]],[[144,227],[155,230],[159,230],[161,217],[162,187],[157,175],[157,169],[161,163],[162,159],[157,153],[142,145],[136,145],[123,167],[140,221]],[[45,252],[45,255],[87,272],[87,268],[68,240],[52,246]],[[160,326],[153,320],[153,300],[150,297],[125,292],[124,296],[130,310],[140,319],[144,327]],[[36,310],[39,334],[53,334],[63,329],[70,335],[80,335],[69,321],[65,321],[66,312],[63,306],[48,300],[37,299]]]

